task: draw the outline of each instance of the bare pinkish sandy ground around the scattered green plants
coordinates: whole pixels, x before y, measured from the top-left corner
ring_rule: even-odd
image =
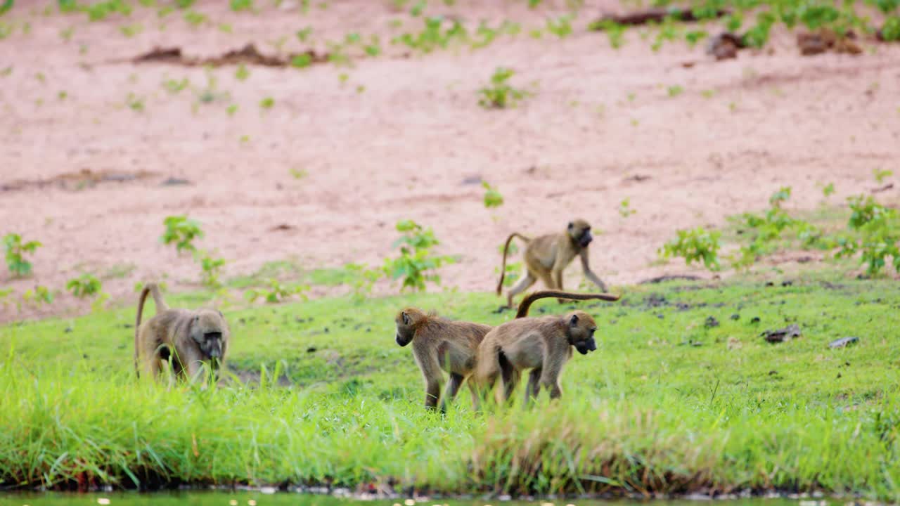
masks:
[[[172,214],[202,222],[199,246],[228,259],[227,276],[286,258],[310,268],[380,264],[392,255],[393,224],[413,219],[435,230],[442,253],[462,256],[442,272],[445,284],[478,291],[493,288],[509,231],[562,230],[582,217],[602,230],[592,266],[624,285],[689,271],[680,261],[653,264],[677,229],[723,225],[765,207],[782,185],[793,187],[796,208],[820,203],[827,183],[841,203],[877,186],[873,169],[900,168],[900,45],[867,41],[858,57],[801,57],[782,33],[770,51],[716,62],[683,43],[653,52],[638,30],[614,50],[584,26],[620,6],[588,2],[563,40],[523,33],[482,50],[408,58],[384,44],[383,56],[352,68],[251,67],[239,80],[233,67],[125,60],[157,45],[203,56],[254,41],[274,53],[282,37],[282,50],[302,50],[293,33],[307,26],[325,50],[324,41],[347,32],[387,41],[421,22],[390,2],[363,0],[332,0],[309,14],[290,2],[265,3],[258,14],[198,2],[211,20],[198,28],[180,13],[159,18],[140,7],[88,23],[84,14],[44,16],[42,3],[18,4],[3,21],[30,31],[0,41],[0,232],[44,247],[32,257],[33,276],[4,271],[0,283],[15,297],[33,285],[61,293],[41,310],[10,304],[2,321],[85,311],[63,291],[82,272],[101,276],[113,301],[130,301],[135,283],[164,275],[171,289],[195,285],[199,267],[159,241]],[[563,5],[461,1],[428,12],[529,27]],[[143,31],[129,38],[122,25]],[[516,109],[485,110],[477,90],[500,66],[536,94]],[[162,86],[184,77],[191,86],[178,94]],[[214,99],[202,103],[210,77]],[[669,86],[684,91],[670,96]],[[127,105],[129,95],[142,111]],[[266,97],[275,101],[268,110],[259,106]],[[127,180],[46,184],[84,170]],[[190,185],[161,185],[169,177]],[[500,189],[502,207],[485,209],[478,178]],[[636,211],[628,218],[618,212],[624,199]],[[567,283],[580,280],[573,264]]]

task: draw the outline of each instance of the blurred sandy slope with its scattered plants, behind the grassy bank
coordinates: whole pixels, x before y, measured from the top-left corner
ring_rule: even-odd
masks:
[[[846,229],[851,195],[896,203],[896,16],[886,1],[7,1],[0,318],[133,303],[151,279],[396,293],[404,235],[443,259],[441,286],[488,292],[509,232],[574,218],[607,283],[727,276],[661,248],[700,227],[740,257],[742,212],[787,209],[822,237]],[[835,245],[749,263],[799,268]]]

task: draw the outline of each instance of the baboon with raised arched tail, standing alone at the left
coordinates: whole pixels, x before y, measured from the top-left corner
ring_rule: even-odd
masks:
[[[140,322],[147,295],[153,295],[157,314]],[[212,373],[225,362],[230,332],[221,312],[214,309],[188,311],[170,309],[159,293],[159,287],[148,283],[140,292],[138,318],[134,325],[134,366],[156,378],[160,367],[171,357],[175,377],[194,378],[201,364],[208,364]]]

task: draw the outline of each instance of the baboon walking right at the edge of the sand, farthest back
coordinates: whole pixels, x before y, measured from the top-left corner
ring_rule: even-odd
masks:
[[[525,292],[538,279],[544,282],[551,290],[563,290],[563,270],[572,262],[572,258],[581,257],[581,267],[586,276],[594,285],[598,285],[601,292],[607,291],[607,285],[590,270],[588,264],[588,245],[593,240],[590,234],[590,223],[584,220],[569,221],[569,225],[562,233],[547,234],[529,239],[518,232],[509,234],[506,244],[503,246],[503,264],[500,267],[500,283],[497,284],[497,294],[503,291],[503,279],[506,276],[506,258],[509,250],[509,242],[518,237],[527,242],[525,248],[525,272],[522,279],[509,289],[507,294],[507,307],[512,309],[512,298]],[[560,300],[562,303],[563,300]]]

